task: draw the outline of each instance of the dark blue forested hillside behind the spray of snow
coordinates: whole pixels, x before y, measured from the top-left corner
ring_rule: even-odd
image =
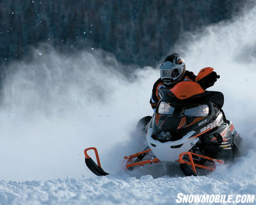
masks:
[[[230,19],[243,0],[0,0],[0,64],[49,42],[154,65],[180,34]],[[75,49],[74,49],[75,48]]]

